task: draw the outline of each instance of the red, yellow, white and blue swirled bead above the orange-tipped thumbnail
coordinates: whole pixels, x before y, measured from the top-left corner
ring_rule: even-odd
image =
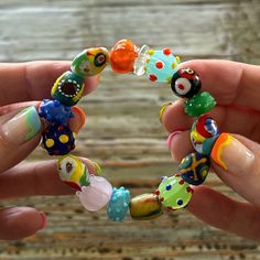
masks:
[[[208,115],[201,116],[192,126],[191,141],[201,154],[209,155],[219,131],[215,120]]]

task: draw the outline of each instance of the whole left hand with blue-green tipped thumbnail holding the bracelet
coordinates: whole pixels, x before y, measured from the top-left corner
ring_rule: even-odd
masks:
[[[43,127],[35,109],[40,101],[35,100],[51,98],[54,82],[67,69],[67,62],[0,64],[0,199],[74,193],[59,181],[55,160],[17,165],[41,140]],[[97,87],[98,77],[89,77],[85,84],[88,94]],[[84,112],[76,109],[69,121],[72,130],[78,132],[84,122]],[[84,161],[96,173],[95,163]],[[0,239],[28,237],[45,225],[45,214],[34,208],[0,209]]]

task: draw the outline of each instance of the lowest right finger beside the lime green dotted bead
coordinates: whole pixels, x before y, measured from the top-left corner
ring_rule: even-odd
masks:
[[[195,186],[187,209],[203,221],[249,239],[260,240],[260,208],[236,202],[206,186]]]

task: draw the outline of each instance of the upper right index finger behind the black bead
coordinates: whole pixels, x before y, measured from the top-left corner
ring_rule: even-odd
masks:
[[[193,68],[219,105],[237,105],[260,110],[260,66],[230,61],[189,61],[180,67]],[[250,102],[248,101],[250,100]]]

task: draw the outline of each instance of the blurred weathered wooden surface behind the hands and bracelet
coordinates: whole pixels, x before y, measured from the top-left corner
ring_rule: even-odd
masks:
[[[110,47],[129,37],[138,45],[171,47],[183,61],[223,58],[260,64],[259,0],[0,0],[0,61],[72,59],[87,46]],[[176,169],[158,120],[167,87],[145,77],[102,74],[84,98],[87,126],[76,154],[104,166],[132,195],[153,189]],[[29,160],[44,160],[41,149]],[[207,184],[235,196],[213,174]],[[202,202],[203,204],[203,202]],[[0,242],[0,259],[260,259],[257,242],[215,229],[185,210],[151,221],[113,224],[89,214],[75,197],[32,197],[47,213],[47,228],[21,241]],[[250,227],[248,227],[250,228]]]

